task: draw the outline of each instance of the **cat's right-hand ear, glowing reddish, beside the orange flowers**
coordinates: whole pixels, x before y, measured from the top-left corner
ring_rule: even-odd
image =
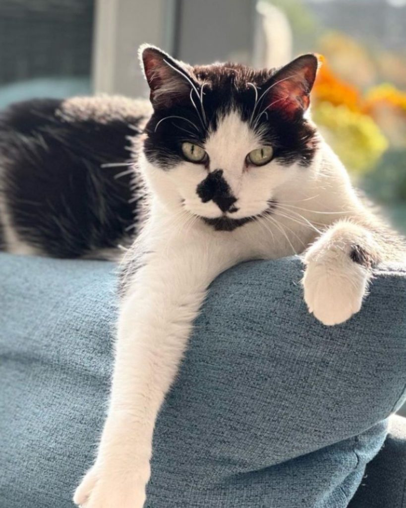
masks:
[[[268,107],[287,115],[306,111],[318,68],[319,59],[314,54],[299,56],[282,67],[268,81],[265,98]]]

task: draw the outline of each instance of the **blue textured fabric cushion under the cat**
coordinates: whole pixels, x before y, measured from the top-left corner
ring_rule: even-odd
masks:
[[[404,397],[406,273],[379,271],[362,311],[328,328],[301,269],[245,263],[212,284],[158,418],[148,508],[347,506]],[[73,506],[105,414],[115,278],[106,262],[0,255],[2,508]]]

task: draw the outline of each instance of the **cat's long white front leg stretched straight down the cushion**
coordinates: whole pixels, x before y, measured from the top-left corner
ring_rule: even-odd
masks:
[[[76,490],[76,504],[144,504],[159,408],[209,283],[234,264],[225,242],[202,240],[153,254],[129,286],[120,310],[109,413],[97,459]]]

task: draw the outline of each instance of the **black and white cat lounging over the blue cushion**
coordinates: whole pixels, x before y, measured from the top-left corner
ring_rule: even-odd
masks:
[[[314,55],[261,71],[140,55],[152,108],[77,98],[0,118],[6,250],[105,257],[135,237],[108,417],[74,496],[86,508],[143,506],[155,419],[218,274],[303,253],[309,311],[335,325],[360,310],[376,263],[404,257],[310,119]]]

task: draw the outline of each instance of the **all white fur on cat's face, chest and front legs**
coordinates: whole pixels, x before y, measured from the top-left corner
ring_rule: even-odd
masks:
[[[127,256],[135,257],[138,251],[148,254],[143,267],[127,281],[108,417],[95,464],[75,493],[77,504],[142,508],[156,416],[176,376],[207,287],[219,273],[248,259],[301,253],[320,236],[319,231],[335,223],[304,258],[305,299],[326,325],[341,323],[359,310],[369,275],[351,261],[349,247],[360,237],[367,243],[371,240],[362,227],[339,220],[361,213],[361,205],[340,161],[320,143],[311,167],[282,167],[273,161],[247,169],[245,157],[260,141],[237,113],[222,119],[205,149],[209,171],[222,169],[237,198],[239,212],[232,216],[260,214],[269,199],[280,203],[275,215],[232,232],[214,231],[197,217],[221,215],[216,204],[202,203],[196,195],[196,186],[208,170],[184,162],[162,171],[141,155],[151,211]]]

